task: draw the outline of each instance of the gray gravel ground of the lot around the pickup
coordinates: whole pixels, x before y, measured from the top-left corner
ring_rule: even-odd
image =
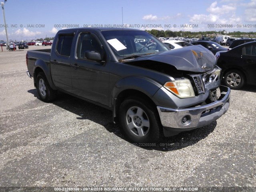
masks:
[[[50,46],[29,50],[42,48]],[[232,90],[228,112],[212,124],[144,148],[124,138],[109,110],[66,94],[40,101],[26,52],[0,52],[0,187],[256,190],[255,86]]]

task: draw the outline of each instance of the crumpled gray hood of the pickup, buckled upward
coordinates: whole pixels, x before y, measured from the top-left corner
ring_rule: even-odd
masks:
[[[191,72],[205,72],[212,70],[216,66],[214,54],[201,45],[187,46],[158,54],[142,56],[125,63],[145,60],[170,64],[177,68],[177,70]]]

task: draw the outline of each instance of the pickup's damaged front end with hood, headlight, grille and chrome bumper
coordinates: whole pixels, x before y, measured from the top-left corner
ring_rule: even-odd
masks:
[[[230,88],[220,86],[221,69],[214,55],[202,46],[144,56],[128,63],[172,77],[154,95],[158,101],[162,98],[167,102],[168,98],[176,105],[166,107],[162,102],[157,106],[165,136],[206,126],[229,108]]]

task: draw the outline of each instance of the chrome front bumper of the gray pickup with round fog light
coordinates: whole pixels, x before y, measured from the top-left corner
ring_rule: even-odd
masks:
[[[207,105],[172,109],[157,106],[164,135],[175,135],[172,132],[182,132],[206,126],[225,114],[229,107],[230,88],[220,86],[221,96],[217,101]]]

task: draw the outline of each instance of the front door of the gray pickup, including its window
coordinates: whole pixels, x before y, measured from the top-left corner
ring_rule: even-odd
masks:
[[[72,61],[72,85],[74,94],[108,106],[109,73],[106,52],[98,37],[92,33],[80,33]],[[86,52],[98,52],[102,61],[86,58]]]

